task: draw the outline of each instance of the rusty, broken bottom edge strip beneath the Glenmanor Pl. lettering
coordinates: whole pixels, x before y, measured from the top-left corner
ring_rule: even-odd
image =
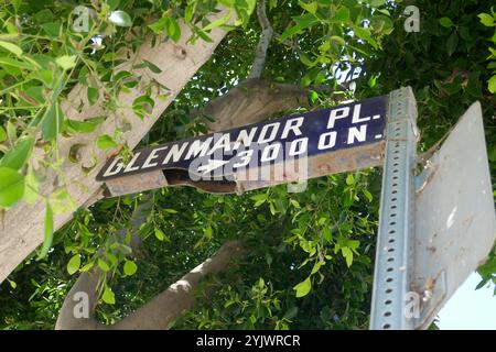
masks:
[[[277,165],[225,174],[218,180],[193,182],[186,169],[158,169],[108,180],[106,186],[109,195],[106,196],[121,196],[165,186],[192,186],[213,194],[239,194],[330,174],[381,166],[385,145],[385,141],[378,141],[299,161],[285,161]]]

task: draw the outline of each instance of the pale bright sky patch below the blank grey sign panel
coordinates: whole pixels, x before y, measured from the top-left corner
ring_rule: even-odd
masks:
[[[496,296],[494,284],[475,289],[481,282],[472,274],[441,309],[438,327],[441,330],[496,330]]]

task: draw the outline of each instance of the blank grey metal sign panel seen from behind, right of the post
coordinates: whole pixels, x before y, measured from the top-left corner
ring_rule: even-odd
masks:
[[[417,178],[410,292],[419,293],[413,328],[428,328],[496,240],[496,216],[481,103],[464,113]]]

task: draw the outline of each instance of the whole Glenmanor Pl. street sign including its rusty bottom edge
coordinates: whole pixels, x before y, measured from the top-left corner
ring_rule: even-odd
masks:
[[[388,97],[137,151],[109,160],[97,180],[112,196],[187,184],[234,193],[380,165]]]

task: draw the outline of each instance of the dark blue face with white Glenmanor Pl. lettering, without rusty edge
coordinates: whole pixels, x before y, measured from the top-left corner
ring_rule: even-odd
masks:
[[[145,147],[126,165],[120,156],[110,158],[96,179],[157,169],[188,170],[191,177],[208,179],[379,142],[385,139],[387,102],[388,96],[381,96]]]

